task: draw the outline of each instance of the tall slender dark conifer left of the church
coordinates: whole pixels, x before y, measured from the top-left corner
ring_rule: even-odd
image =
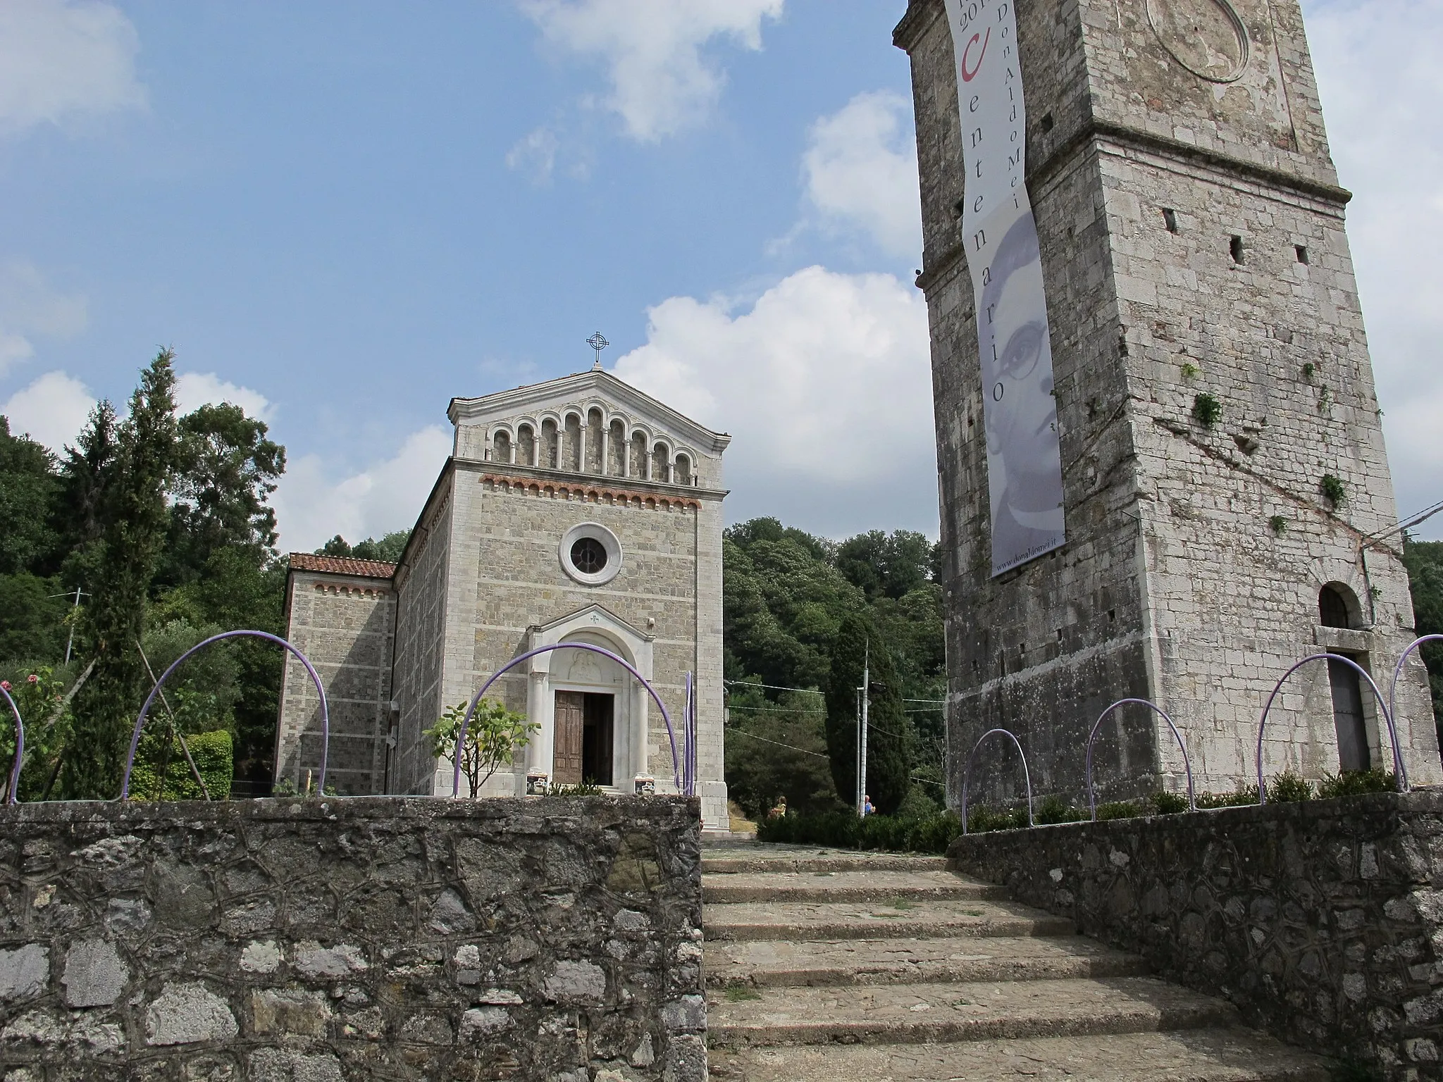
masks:
[[[69,799],[118,795],[146,690],[136,643],[170,522],[166,486],[176,460],[173,356],[163,349],[141,372],[130,415],[115,427],[95,577],[79,625],[79,654],[94,658],[95,669],[72,704],[75,729],[62,773],[62,793]]]

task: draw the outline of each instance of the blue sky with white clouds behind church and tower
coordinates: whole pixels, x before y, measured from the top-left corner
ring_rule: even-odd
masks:
[[[271,423],[312,548],[408,527],[447,400],[600,329],[736,436],[733,519],[935,534],[903,10],[4,0],[0,408],[58,444],[170,345],[185,404]],[[1443,499],[1443,7],[1309,17],[1410,511]]]

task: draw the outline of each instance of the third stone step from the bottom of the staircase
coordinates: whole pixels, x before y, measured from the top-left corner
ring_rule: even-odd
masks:
[[[775,939],[709,942],[701,967],[707,985],[797,985],[1039,981],[1074,977],[1141,977],[1147,964],[1095,939],[1053,938]]]

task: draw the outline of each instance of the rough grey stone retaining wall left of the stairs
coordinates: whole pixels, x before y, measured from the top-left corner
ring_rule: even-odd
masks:
[[[4,1082],[704,1079],[681,798],[0,809]]]

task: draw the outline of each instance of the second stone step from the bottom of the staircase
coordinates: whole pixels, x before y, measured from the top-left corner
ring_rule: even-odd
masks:
[[[747,998],[736,991],[707,994],[711,1047],[916,1044],[1237,1024],[1225,1000],[1152,977],[768,988],[743,991]]]

